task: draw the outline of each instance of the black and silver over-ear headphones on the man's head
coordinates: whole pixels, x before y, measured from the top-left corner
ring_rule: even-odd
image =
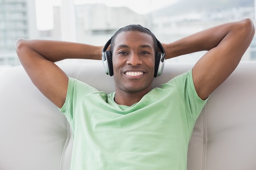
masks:
[[[141,26],[141,25],[139,25],[139,26]],[[157,76],[160,76],[162,74],[163,69],[164,69],[165,51],[164,51],[163,45],[157,40],[156,37],[155,37],[155,39],[157,41],[157,46],[158,46],[158,48],[161,51],[161,52],[157,52],[157,54],[155,56],[155,73],[154,73],[154,77],[157,77]],[[102,63],[103,63],[103,67],[105,69],[105,73],[107,75],[110,75],[110,76],[113,75],[112,53],[111,53],[111,51],[107,51],[107,49],[108,49],[108,46],[111,44],[111,40],[112,40],[112,37],[108,40],[108,42],[105,44],[105,46],[102,49]]]

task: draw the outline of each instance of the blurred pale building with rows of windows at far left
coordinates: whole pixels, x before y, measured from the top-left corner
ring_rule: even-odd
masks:
[[[18,65],[19,38],[38,38],[35,0],[0,0],[0,65]]]

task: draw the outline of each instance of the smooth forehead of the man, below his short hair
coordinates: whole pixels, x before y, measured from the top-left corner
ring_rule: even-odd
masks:
[[[125,45],[136,45],[136,44],[147,44],[153,48],[153,38],[151,35],[147,33],[139,32],[139,31],[125,31],[121,32],[117,35],[115,39],[115,47],[119,46],[120,44]]]

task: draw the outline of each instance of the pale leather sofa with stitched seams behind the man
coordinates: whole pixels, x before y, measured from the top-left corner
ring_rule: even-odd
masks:
[[[192,66],[166,63],[153,85]],[[101,62],[60,67],[101,91],[114,91]],[[69,170],[72,130],[22,66],[0,75],[0,137],[0,170]],[[256,170],[256,62],[241,62],[210,96],[191,137],[187,169]]]

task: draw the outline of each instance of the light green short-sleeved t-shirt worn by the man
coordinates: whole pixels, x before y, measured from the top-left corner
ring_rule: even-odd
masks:
[[[130,107],[114,97],[69,78],[61,112],[73,130],[71,170],[186,170],[189,139],[206,103],[192,72]]]

